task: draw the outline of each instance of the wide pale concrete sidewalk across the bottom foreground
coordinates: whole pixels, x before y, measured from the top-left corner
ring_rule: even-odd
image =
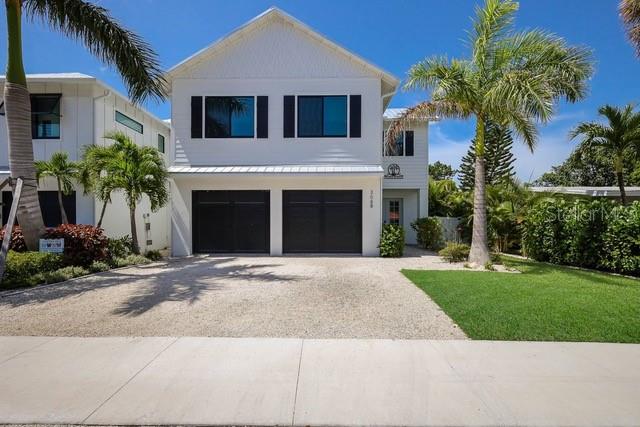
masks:
[[[0,337],[0,423],[640,425],[640,345]]]

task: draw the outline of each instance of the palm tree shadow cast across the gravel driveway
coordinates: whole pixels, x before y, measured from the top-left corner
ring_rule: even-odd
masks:
[[[225,281],[241,280],[259,283],[287,282],[299,277],[274,272],[280,264],[244,263],[235,257],[192,257],[106,271],[68,282],[36,286],[24,291],[0,294],[0,309],[75,298],[117,286],[135,285],[112,314],[139,316],[163,302],[196,303],[205,292],[224,287]],[[265,260],[266,261],[266,260]],[[94,296],[99,298],[99,294]]]

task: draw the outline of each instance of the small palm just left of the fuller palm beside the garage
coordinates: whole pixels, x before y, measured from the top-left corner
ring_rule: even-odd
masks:
[[[112,157],[116,156],[114,146],[101,147],[90,145],[85,149],[80,163],[78,180],[84,188],[85,194],[93,194],[102,202],[100,218],[96,226],[102,227],[102,220],[107,210],[107,205],[111,203],[111,193],[115,190],[113,179],[105,175],[105,167]]]

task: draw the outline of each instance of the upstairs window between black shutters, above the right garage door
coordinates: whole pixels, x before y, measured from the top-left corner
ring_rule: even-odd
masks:
[[[346,95],[298,96],[298,137],[346,136]]]

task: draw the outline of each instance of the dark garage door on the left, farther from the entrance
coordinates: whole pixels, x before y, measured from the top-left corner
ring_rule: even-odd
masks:
[[[194,191],[193,251],[269,252],[268,191]]]

